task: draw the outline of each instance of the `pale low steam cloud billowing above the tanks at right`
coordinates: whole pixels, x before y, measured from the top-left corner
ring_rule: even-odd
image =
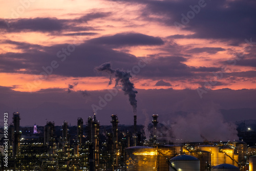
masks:
[[[220,112],[190,113],[178,116],[172,127],[173,135],[183,142],[238,140],[236,125],[225,122]]]

